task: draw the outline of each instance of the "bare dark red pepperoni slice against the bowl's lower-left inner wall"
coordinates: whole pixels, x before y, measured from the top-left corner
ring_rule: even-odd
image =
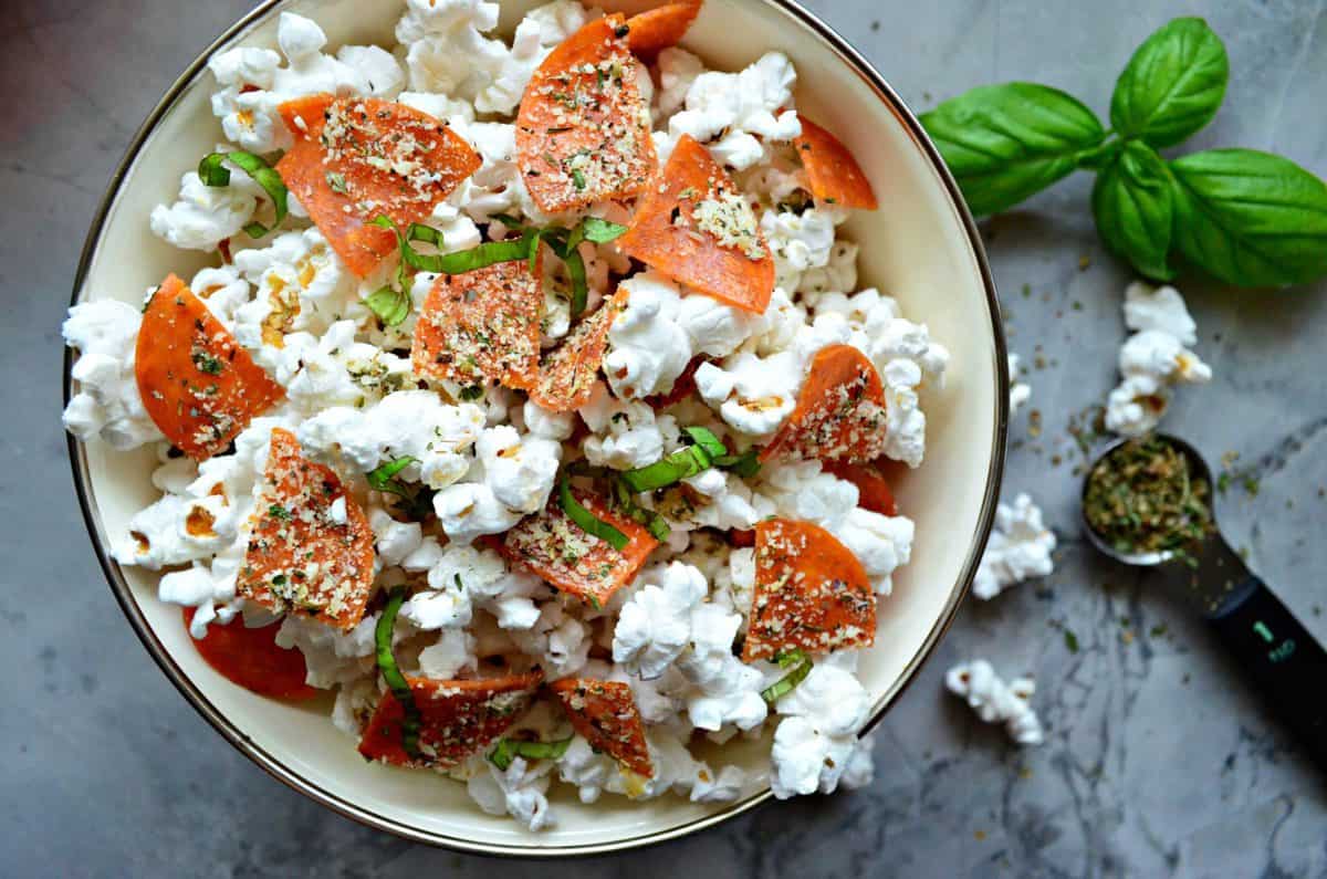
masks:
[[[194,608],[184,608],[184,628],[194,621]],[[199,655],[226,680],[259,696],[304,701],[320,690],[304,682],[308,669],[304,653],[276,645],[280,623],[248,628],[242,617],[211,623],[207,636],[191,637]]]

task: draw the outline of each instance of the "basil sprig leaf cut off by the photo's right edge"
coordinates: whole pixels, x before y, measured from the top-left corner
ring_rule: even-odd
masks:
[[[1287,158],[1206,150],[1170,162],[1185,259],[1237,287],[1327,275],[1327,185]]]

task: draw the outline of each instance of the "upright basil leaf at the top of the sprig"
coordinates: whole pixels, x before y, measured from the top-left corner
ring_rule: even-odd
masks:
[[[1115,84],[1111,125],[1152,146],[1180,143],[1217,114],[1230,58],[1202,19],[1176,19],[1139,46]]]

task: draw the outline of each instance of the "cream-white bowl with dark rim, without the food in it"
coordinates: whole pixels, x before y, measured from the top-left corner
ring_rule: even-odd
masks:
[[[236,44],[275,46],[283,9],[314,19],[330,45],[391,42],[401,3],[268,0],[195,60],[147,117],[110,182],[92,224],[74,301],[141,301],[167,272],[184,278],[203,256],[169,247],[147,227],[159,202],[173,200],[179,175],[222,138],[208,109],[207,58]],[[510,33],[536,0],[503,3]],[[606,3],[632,12],[645,3]],[[798,69],[798,106],[835,131],[861,162],[880,198],[859,211],[849,232],[861,244],[863,285],[896,296],[949,347],[942,392],[926,398],[925,465],[897,486],[917,522],[913,560],[884,600],[876,647],[861,663],[873,697],[872,724],[897,698],[949,625],[986,544],[1005,455],[1009,378],[995,288],[973,219],[934,146],[898,96],[841,37],[784,0],[710,0],[685,45],[719,69],[736,70],[763,52],[786,52]],[[68,401],[69,357],[65,362]],[[121,568],[107,532],[154,499],[146,450],[114,453],[69,442],[88,528],[115,598],[138,636],[184,697],[238,749],[277,779],[366,825],[453,848],[520,855],[572,855],[642,846],[709,827],[770,798],[750,790],[738,802],[697,805],[664,797],[634,803],[608,795],[581,805],[555,798],[559,823],[527,833],[483,814],[460,785],[431,773],[366,763],[328,720],[328,701],[293,706],[255,696],[214,672],[190,644],[175,605],[157,599],[157,578]],[[754,763],[768,741],[730,750]]]

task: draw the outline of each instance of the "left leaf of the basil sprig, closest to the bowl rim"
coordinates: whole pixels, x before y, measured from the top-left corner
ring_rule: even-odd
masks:
[[[921,121],[978,216],[1067,177],[1105,139],[1082,101],[1034,82],[973,89]]]

